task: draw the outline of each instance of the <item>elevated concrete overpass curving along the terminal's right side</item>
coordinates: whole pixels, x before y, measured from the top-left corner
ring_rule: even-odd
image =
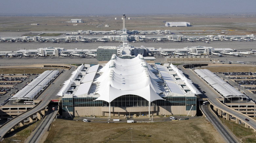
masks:
[[[230,119],[235,119],[236,123],[239,123],[241,121],[241,123],[245,124],[246,128],[252,128],[254,130],[254,132],[256,132],[256,121],[254,119],[252,119],[251,117],[236,111],[226,105],[224,105],[224,103],[221,103],[221,101],[219,100],[219,97],[222,97],[221,95],[219,95],[219,93],[214,90],[211,86],[209,86],[201,77],[199,77],[194,71],[192,71],[191,69],[185,69],[183,66],[184,65],[189,65],[189,64],[182,64],[179,65],[179,69],[181,69],[184,74],[187,74],[188,78],[190,80],[193,81],[194,84],[198,85],[201,90],[203,89],[204,91],[206,91],[206,95],[205,98],[206,100],[208,100],[210,102],[211,105],[213,105],[213,110],[215,111],[215,113],[227,120]],[[223,114],[226,114],[226,116],[224,116]],[[204,117],[205,114],[203,114]],[[230,118],[230,116],[232,116],[232,118]],[[249,119],[249,121],[246,121],[246,119]]]

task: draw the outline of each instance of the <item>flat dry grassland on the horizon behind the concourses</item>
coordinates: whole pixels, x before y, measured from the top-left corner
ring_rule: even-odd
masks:
[[[115,16],[52,16],[52,17],[0,17],[0,32],[11,31],[77,31],[120,30],[122,20]],[[117,18],[117,20],[115,20]],[[130,20],[128,20],[130,18]],[[84,23],[73,25],[71,19],[82,19]],[[128,30],[243,30],[255,31],[256,17],[244,15],[126,15]],[[189,22],[189,27],[165,27],[166,22]],[[30,25],[30,24],[39,25]],[[105,27],[108,24],[109,27]],[[232,33],[232,32],[231,32]]]

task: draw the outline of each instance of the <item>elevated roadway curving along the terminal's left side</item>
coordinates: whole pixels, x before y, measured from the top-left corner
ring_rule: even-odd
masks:
[[[61,88],[60,84],[63,84],[66,80],[68,80],[71,76],[71,73],[75,70],[75,66],[71,66],[70,70],[65,70],[63,73],[61,73],[54,81],[54,84],[51,84],[47,89],[37,98],[41,100],[41,103],[39,103],[35,108],[32,108],[30,111],[25,112],[24,114],[21,114],[7,122],[6,124],[2,125],[0,128],[0,136],[4,137],[9,130],[13,127],[13,125],[17,125],[22,120],[27,119],[30,115],[33,115],[37,112],[40,112],[40,110],[44,109],[48,104],[50,103],[51,99],[58,98],[57,93],[59,89]]]

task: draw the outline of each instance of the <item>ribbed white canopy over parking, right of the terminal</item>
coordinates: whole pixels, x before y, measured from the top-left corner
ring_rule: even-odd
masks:
[[[197,69],[194,70],[205,82],[207,82],[211,87],[217,90],[224,98],[230,97],[243,97],[246,98],[244,94],[239,92],[237,89],[224,82],[219,76],[212,73],[207,69]]]

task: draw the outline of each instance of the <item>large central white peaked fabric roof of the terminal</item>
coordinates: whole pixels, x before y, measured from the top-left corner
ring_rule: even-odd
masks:
[[[121,59],[116,55],[98,71],[101,73],[94,83],[99,84],[96,100],[111,102],[117,97],[127,94],[138,95],[149,102],[163,100],[158,81],[160,79],[152,72],[150,65],[142,55],[133,59]]]

